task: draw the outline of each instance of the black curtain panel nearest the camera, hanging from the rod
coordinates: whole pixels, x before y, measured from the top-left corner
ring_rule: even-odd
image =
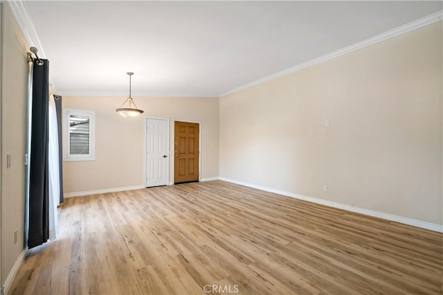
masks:
[[[48,240],[48,60],[33,64],[28,248]]]

